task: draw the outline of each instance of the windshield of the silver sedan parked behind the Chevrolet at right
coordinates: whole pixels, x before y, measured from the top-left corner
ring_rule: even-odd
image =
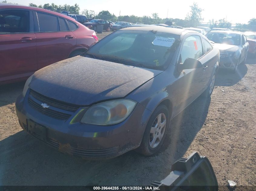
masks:
[[[229,45],[236,45],[240,44],[240,35],[239,34],[232,34],[232,33],[214,33],[210,32],[206,34],[206,37],[213,41],[214,43],[219,44],[229,44]]]

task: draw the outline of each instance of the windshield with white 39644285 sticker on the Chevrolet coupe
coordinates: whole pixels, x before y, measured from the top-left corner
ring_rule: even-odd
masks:
[[[82,56],[164,70],[177,47],[178,37],[169,33],[122,30],[104,38]]]

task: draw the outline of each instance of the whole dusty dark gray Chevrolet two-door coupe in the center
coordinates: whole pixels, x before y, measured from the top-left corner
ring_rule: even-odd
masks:
[[[159,151],[170,120],[211,96],[219,50],[190,30],[132,27],[81,56],[35,72],[16,101],[19,123],[61,152],[113,158]]]

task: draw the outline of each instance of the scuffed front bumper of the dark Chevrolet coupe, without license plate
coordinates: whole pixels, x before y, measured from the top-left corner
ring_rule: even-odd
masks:
[[[62,153],[89,160],[114,158],[137,148],[151,115],[151,111],[138,103],[125,121],[112,126],[72,120],[79,115],[79,109],[67,120],[59,120],[32,108],[28,103],[28,92],[25,98],[22,95],[17,98],[15,106],[22,129]]]

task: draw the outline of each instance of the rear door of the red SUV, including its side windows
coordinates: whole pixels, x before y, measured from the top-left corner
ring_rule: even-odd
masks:
[[[67,59],[76,46],[72,30],[78,28],[77,24],[39,11],[35,17],[38,19],[35,32],[38,69]]]

